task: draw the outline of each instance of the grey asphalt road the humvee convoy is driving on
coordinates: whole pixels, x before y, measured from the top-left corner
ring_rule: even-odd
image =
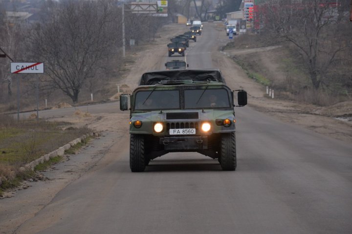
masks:
[[[212,67],[217,35],[204,26],[187,49],[190,68]],[[248,106],[236,117],[236,171],[172,153],[132,173],[126,136],[16,233],[352,233],[352,146]]]

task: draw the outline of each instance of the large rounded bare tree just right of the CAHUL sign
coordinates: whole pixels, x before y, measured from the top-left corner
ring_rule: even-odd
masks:
[[[61,89],[78,102],[79,93],[95,77],[102,61],[116,53],[121,39],[120,10],[109,0],[53,3],[30,37],[31,51],[45,64],[47,87]]]

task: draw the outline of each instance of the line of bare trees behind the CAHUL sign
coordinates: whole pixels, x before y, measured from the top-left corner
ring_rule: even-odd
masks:
[[[44,63],[41,92],[61,90],[73,103],[83,89],[104,85],[108,74],[122,63],[122,8],[117,0],[44,1],[38,21],[9,22],[0,13],[1,48],[16,62]],[[125,12],[126,45],[153,40],[162,17]],[[0,60],[1,85],[12,100],[9,60]],[[33,88],[29,83],[27,91]],[[26,90],[22,90],[23,93]]]

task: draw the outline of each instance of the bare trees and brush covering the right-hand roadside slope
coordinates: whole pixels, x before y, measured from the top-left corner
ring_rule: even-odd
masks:
[[[350,0],[265,0],[260,5],[261,35],[288,43],[315,90],[352,92]]]

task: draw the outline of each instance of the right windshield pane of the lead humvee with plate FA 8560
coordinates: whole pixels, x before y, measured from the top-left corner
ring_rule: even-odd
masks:
[[[230,107],[226,89],[192,89],[185,90],[185,108]]]

